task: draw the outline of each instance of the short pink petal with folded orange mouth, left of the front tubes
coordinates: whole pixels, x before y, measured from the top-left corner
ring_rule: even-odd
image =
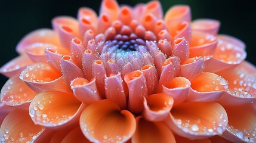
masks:
[[[91,79],[89,82],[87,79],[78,77],[71,82],[71,88],[79,101],[91,104],[92,102],[101,100],[95,79]]]

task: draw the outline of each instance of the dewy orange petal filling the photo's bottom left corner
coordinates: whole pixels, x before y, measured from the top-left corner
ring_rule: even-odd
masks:
[[[0,129],[0,141],[33,142],[45,134],[43,126],[35,125],[27,111],[14,110],[5,117]]]

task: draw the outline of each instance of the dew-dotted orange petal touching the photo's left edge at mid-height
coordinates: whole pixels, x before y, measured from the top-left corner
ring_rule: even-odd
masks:
[[[36,93],[17,76],[13,76],[1,89],[1,101],[5,105],[28,109]]]

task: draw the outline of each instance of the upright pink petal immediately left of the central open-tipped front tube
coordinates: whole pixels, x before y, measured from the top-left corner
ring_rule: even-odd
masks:
[[[121,109],[127,107],[127,97],[120,73],[106,77],[105,90],[107,99],[114,101]]]

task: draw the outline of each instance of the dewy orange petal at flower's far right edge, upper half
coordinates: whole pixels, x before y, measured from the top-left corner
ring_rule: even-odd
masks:
[[[218,72],[228,69],[242,63],[246,55],[245,43],[232,36],[220,35],[213,57],[205,61],[205,71]]]

